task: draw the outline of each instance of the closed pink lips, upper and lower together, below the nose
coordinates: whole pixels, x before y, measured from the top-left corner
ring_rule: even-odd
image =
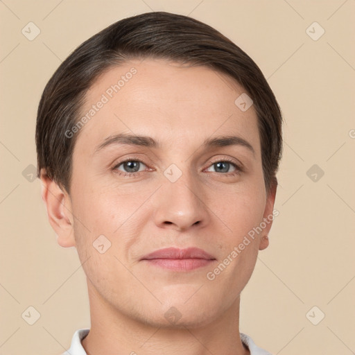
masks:
[[[215,260],[211,254],[199,248],[160,249],[141,258],[141,261],[152,266],[180,272],[206,267]]]

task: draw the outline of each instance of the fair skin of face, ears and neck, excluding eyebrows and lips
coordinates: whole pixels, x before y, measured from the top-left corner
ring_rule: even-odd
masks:
[[[44,171],[41,177],[58,243],[76,247],[87,275],[92,324],[83,346],[89,355],[249,354],[239,338],[240,293],[272,223],[214,280],[206,275],[272,215],[276,187],[266,194],[257,115],[234,104],[244,90],[228,76],[152,59],[106,71],[87,92],[83,114],[132,67],[137,73],[80,130],[71,195]],[[149,136],[161,147],[116,144],[94,153],[118,133]],[[225,135],[245,139],[254,153],[202,146]],[[143,163],[135,176],[119,175],[129,172],[118,165],[125,159]],[[243,171],[231,164],[220,172],[215,163],[225,159]],[[171,164],[182,173],[175,182],[164,175]],[[111,243],[103,254],[93,246],[100,235]],[[180,272],[140,260],[168,247],[201,248],[216,260]],[[164,316],[171,307],[177,322]]]

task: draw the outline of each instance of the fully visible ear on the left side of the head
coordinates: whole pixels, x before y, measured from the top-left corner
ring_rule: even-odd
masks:
[[[51,180],[44,168],[40,172],[42,200],[46,205],[49,223],[57,235],[58,244],[64,248],[75,246],[73,214],[71,200],[67,191],[63,191]]]

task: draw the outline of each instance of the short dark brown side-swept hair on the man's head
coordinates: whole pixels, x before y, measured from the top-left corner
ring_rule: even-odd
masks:
[[[147,12],[103,29],[60,64],[42,94],[37,112],[37,176],[41,168],[70,193],[76,125],[87,90],[103,71],[130,59],[162,58],[226,73],[252,98],[257,112],[266,190],[277,182],[282,155],[282,113],[254,61],[211,26],[191,17]]]

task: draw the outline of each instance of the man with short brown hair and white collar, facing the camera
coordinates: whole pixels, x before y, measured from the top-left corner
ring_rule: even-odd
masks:
[[[49,80],[36,144],[49,222],[87,276],[91,327],[67,354],[269,354],[239,304],[275,216],[282,115],[248,55],[182,15],[118,21]]]

